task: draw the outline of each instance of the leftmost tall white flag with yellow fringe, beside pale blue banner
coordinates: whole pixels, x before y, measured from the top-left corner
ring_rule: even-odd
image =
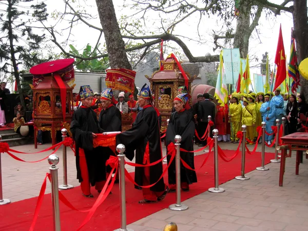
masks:
[[[223,68],[222,51],[220,51],[219,55],[218,76],[214,96],[217,102],[221,103],[221,106],[224,107],[228,99],[228,88]]]

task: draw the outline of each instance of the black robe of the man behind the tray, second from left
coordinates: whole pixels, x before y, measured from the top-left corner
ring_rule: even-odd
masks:
[[[112,105],[101,110],[99,125],[103,131],[122,131],[122,118],[119,108]],[[115,156],[114,152],[109,147],[102,147],[102,151],[106,160],[108,160],[110,156]],[[106,171],[110,172],[111,167],[106,166]]]

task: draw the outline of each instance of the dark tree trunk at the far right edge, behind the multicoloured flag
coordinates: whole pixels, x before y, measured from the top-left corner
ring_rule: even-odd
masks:
[[[293,24],[298,64],[308,57],[307,0],[294,0]],[[300,76],[301,92],[308,99],[308,81]]]

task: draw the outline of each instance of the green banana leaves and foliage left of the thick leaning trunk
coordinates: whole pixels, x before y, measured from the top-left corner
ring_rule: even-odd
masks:
[[[108,58],[104,59],[92,59],[92,57],[97,56],[98,48],[100,44],[97,46],[97,48],[93,49],[92,47],[87,44],[87,46],[84,48],[82,53],[79,53],[79,51],[73,46],[69,45],[70,51],[69,53],[74,54],[74,55],[79,55],[82,56],[88,60],[81,60],[81,59],[76,59],[75,60],[75,69],[81,70],[81,71],[105,71],[109,67],[109,60]],[[63,57],[66,57],[63,53],[61,53]]]

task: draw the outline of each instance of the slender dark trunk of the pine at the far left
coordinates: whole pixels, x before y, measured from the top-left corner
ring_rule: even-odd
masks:
[[[20,81],[20,75],[18,73],[16,58],[15,58],[13,28],[12,28],[13,21],[12,21],[12,13],[11,13],[12,6],[13,6],[12,1],[8,1],[8,24],[9,24],[8,25],[8,35],[9,35],[9,41],[10,41],[11,61],[12,61],[13,68],[14,68],[14,77],[15,77],[15,81],[17,84],[18,93],[20,93],[21,104],[26,109],[24,95],[23,95],[21,81]]]

